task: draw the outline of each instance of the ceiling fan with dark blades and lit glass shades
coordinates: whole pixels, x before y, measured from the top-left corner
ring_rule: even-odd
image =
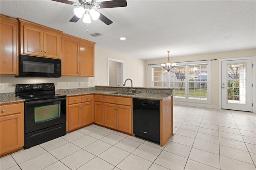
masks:
[[[127,6],[126,0],[111,0],[111,1],[103,1],[103,2],[96,2],[96,0],[78,0],[78,3],[72,2],[69,0],[52,0],[56,2],[62,2],[64,4],[70,4],[74,6],[80,6],[79,8],[74,9],[75,15],[73,18],[71,18],[70,22],[78,22],[82,16],[83,22],[86,24],[91,23],[90,16],[93,20],[100,19],[105,24],[109,25],[113,22],[108,19],[106,16],[98,12],[97,10],[94,10],[93,8],[115,8],[115,7],[125,7]]]

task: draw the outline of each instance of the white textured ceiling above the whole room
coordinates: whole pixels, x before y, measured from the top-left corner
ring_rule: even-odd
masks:
[[[127,0],[127,7],[98,9],[113,24],[92,20],[88,28],[81,19],[69,22],[74,8],[50,0],[0,0],[1,14],[141,59],[164,58],[166,51],[172,57],[256,47],[255,0]],[[102,36],[89,35],[95,32]],[[121,41],[120,37],[127,39]]]

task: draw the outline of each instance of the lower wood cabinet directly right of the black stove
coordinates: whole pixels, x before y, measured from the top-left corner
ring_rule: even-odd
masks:
[[[92,123],[92,95],[68,97],[68,131]]]

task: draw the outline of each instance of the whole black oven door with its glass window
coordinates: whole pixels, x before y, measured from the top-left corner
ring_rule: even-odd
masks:
[[[66,98],[25,102],[25,132],[66,123]]]

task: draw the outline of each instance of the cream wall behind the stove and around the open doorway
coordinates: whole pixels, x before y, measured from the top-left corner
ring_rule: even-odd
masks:
[[[84,87],[94,87],[99,82],[99,85],[105,85],[107,82],[107,57],[124,61],[124,78],[130,78],[133,85],[137,87],[144,86],[144,67],[145,60],[137,59],[131,56],[123,55],[95,46],[95,77],[66,77],[60,78],[39,78],[39,77],[19,77],[15,76],[0,76],[0,83],[4,85],[4,90],[0,93],[15,92],[16,84],[24,83],[54,83],[56,89],[74,89]],[[92,84],[94,82],[94,85]],[[79,82],[83,82],[84,86],[79,87]],[[66,83],[70,86],[66,87]],[[130,86],[127,83],[126,86]]]

